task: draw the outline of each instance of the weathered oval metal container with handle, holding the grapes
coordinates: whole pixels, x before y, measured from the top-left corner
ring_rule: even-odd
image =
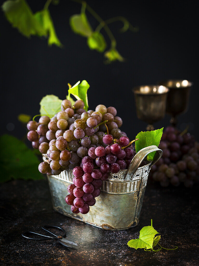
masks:
[[[139,167],[150,152],[156,152],[154,161]],[[87,214],[72,213],[71,206],[65,202],[67,187],[72,184],[74,177],[71,170],[63,171],[59,176],[47,176],[53,209],[73,219],[107,230],[135,227],[139,223],[150,168],[161,156],[162,150],[157,146],[149,146],[136,153],[127,170],[120,170],[117,174],[110,173],[109,178],[103,181],[96,204],[90,207]]]

